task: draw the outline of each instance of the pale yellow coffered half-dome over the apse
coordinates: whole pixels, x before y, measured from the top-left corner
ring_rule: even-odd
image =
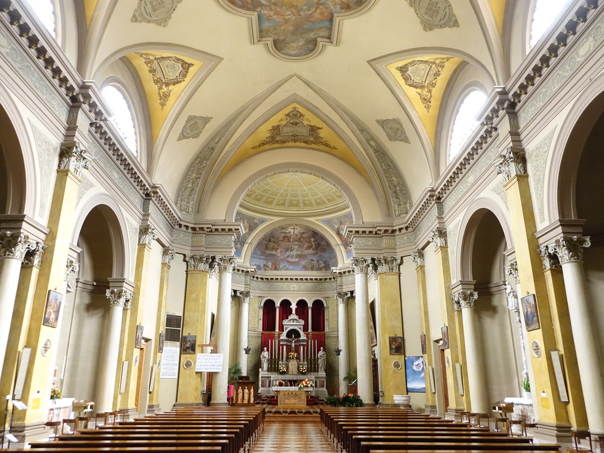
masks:
[[[320,176],[295,171],[269,175],[252,185],[243,196],[241,207],[257,213],[308,216],[350,209],[335,185]]]

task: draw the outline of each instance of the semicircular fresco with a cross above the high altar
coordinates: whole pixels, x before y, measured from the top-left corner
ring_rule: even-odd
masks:
[[[323,235],[307,226],[287,225],[266,233],[249,263],[259,271],[330,271],[338,259]]]

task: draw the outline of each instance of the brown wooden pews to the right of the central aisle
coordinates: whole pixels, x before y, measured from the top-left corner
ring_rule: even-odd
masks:
[[[528,437],[400,408],[322,408],[320,417],[321,429],[338,453],[560,451],[556,444],[534,444]]]

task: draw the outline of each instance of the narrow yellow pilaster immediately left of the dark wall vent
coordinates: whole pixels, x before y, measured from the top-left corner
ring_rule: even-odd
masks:
[[[168,280],[170,277],[170,264],[174,259],[176,253],[172,247],[164,247],[161,252],[161,273],[159,274],[159,297],[157,307],[157,318],[155,325],[157,326],[156,331],[159,335],[164,335],[165,332],[165,306],[168,301]],[[159,352],[159,338],[153,341],[153,364],[158,365],[161,360],[161,352]],[[147,413],[158,413],[161,411],[159,407],[159,367],[155,370],[155,381],[153,382],[153,390],[149,395],[149,406]]]

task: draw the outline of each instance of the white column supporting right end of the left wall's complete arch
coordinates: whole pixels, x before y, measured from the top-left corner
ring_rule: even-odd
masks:
[[[129,308],[132,300],[132,292],[126,289],[108,289],[106,295],[109,299],[109,319],[98,379],[98,398],[95,404],[97,412],[114,410],[114,384],[120,351],[121,316],[124,307]]]

